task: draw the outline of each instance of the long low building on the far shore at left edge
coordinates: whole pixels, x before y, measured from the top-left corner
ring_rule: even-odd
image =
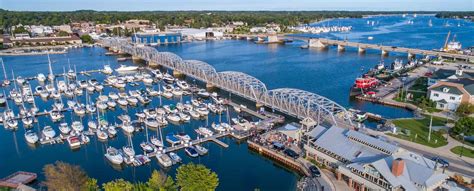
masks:
[[[82,40],[76,36],[64,36],[64,37],[6,37],[3,42],[5,47],[17,47],[17,46],[43,46],[43,45],[67,45],[67,44],[82,44]]]

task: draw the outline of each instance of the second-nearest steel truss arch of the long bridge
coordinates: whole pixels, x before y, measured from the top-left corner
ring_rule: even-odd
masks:
[[[219,72],[214,83],[226,91],[257,103],[261,102],[267,93],[267,86],[262,81],[242,72]]]

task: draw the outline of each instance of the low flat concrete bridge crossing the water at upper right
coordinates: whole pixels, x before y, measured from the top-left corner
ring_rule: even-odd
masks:
[[[305,37],[290,37],[296,39],[305,39],[308,42],[308,47],[326,48],[328,46],[337,46],[339,51],[344,51],[346,47],[358,48],[360,53],[365,53],[367,49],[380,50],[381,54],[388,55],[390,52],[407,53],[408,58],[413,58],[415,55],[422,56],[436,56],[442,58],[450,58],[455,60],[464,60],[474,62],[474,56],[455,54],[448,52],[438,52],[433,50],[422,50],[416,48],[404,48],[397,46],[388,46],[381,44],[368,44],[360,42],[350,42],[346,40],[331,40],[326,38],[305,38]]]

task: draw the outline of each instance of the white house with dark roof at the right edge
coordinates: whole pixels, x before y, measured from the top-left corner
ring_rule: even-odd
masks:
[[[461,103],[474,104],[474,78],[438,81],[428,87],[428,97],[441,110],[455,111]]]

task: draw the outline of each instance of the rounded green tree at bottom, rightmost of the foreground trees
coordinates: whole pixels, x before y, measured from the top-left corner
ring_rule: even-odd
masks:
[[[176,183],[183,191],[215,190],[219,179],[215,172],[204,165],[189,163],[178,168]]]

